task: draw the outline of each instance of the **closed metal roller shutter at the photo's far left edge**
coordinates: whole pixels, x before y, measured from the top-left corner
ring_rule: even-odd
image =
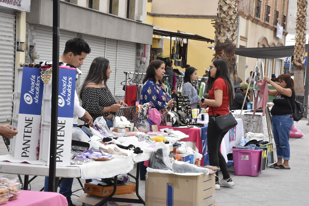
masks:
[[[16,14],[0,10],[0,122],[12,119],[15,51]]]

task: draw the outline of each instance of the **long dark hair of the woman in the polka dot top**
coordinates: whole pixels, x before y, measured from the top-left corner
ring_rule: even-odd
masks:
[[[108,64],[109,64],[108,59],[105,59],[104,57],[97,57],[92,61],[87,77],[79,93],[80,98],[82,98],[82,91],[86,87],[87,84],[89,83],[99,84],[101,79],[103,79],[103,84],[105,87],[106,95],[109,98],[108,87],[106,84],[106,81],[107,81],[106,71],[108,69]]]

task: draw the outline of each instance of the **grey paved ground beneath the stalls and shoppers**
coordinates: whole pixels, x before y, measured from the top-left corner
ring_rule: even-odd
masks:
[[[215,193],[215,200],[217,206],[285,206],[309,205],[309,165],[306,163],[308,159],[309,146],[309,126],[307,120],[301,120],[295,123],[295,126],[301,130],[305,136],[299,139],[290,138],[291,160],[290,170],[276,170],[267,167],[263,174],[256,177],[249,176],[235,176],[234,168],[229,167],[229,171],[233,181],[234,187],[221,187]],[[8,154],[4,142],[0,141],[0,155]],[[276,155],[275,155],[275,159]],[[131,171],[135,175],[136,168]],[[1,174],[8,178],[17,177],[17,175]],[[23,179],[23,175],[22,179]],[[222,174],[219,172],[219,177]],[[32,176],[29,177],[29,179]],[[85,180],[81,179],[82,183]],[[31,182],[31,190],[39,191],[44,186],[44,177],[37,177]],[[74,179],[72,190],[79,188],[80,185],[77,179]],[[74,193],[80,196],[82,191]],[[140,181],[140,195],[145,198],[145,181]],[[78,196],[72,196],[72,201],[77,206],[82,203],[77,202]],[[135,206],[142,206],[142,204],[134,204]]]

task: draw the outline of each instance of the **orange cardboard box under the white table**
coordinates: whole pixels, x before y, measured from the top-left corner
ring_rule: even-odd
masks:
[[[84,185],[84,192],[91,195],[96,196],[109,196],[114,191],[114,186],[109,187],[102,187],[94,184],[85,183]],[[136,184],[126,184],[117,186],[117,190],[115,195],[122,195],[122,194],[129,194],[135,193],[136,191]]]

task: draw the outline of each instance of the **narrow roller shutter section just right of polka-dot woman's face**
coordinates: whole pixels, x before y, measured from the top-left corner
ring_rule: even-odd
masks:
[[[116,76],[116,61],[117,61],[117,40],[106,39],[105,42],[105,58],[109,60],[109,65],[112,70],[110,77],[107,81],[108,89],[112,94],[115,94],[115,76]],[[117,81],[118,77],[117,77]],[[120,84],[120,83],[119,83]]]

